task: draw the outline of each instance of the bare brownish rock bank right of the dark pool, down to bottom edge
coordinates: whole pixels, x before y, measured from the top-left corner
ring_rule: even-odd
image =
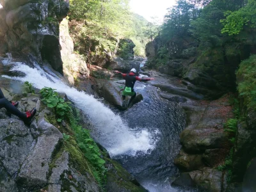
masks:
[[[205,191],[225,191],[227,175],[216,167],[225,161],[231,147],[223,123],[232,118],[228,97],[209,101],[181,103],[187,115],[187,127],[180,133],[182,150],[174,163],[182,172],[173,184],[197,186]]]

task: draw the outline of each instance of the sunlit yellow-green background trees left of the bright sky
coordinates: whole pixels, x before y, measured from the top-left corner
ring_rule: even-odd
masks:
[[[70,28],[76,42],[74,49],[86,56],[88,63],[106,58],[106,53],[113,55],[117,51],[118,38],[132,39],[136,42],[135,54],[145,56],[148,22],[140,15],[131,13],[128,3],[127,0],[70,1],[69,19],[77,26]]]

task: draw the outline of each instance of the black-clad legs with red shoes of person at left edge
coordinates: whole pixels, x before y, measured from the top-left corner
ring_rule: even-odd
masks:
[[[12,113],[13,115],[21,118],[25,124],[30,124],[33,116],[36,114],[36,108],[33,108],[30,111],[26,111],[26,113],[22,113],[17,109],[19,102],[9,101],[4,97],[4,94],[0,88],[0,109],[5,108],[7,111]]]

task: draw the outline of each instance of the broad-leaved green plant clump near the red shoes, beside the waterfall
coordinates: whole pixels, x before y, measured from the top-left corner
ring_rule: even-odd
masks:
[[[43,97],[42,102],[44,102],[48,108],[54,108],[56,115],[58,115],[58,122],[61,122],[65,117],[70,115],[70,102],[65,102],[54,89],[45,87],[40,90],[40,93]]]

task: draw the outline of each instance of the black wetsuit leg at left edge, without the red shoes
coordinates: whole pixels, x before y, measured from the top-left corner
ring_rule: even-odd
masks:
[[[7,111],[12,113],[13,115],[18,116],[22,120],[26,120],[27,118],[25,113],[20,112],[19,109],[13,106],[12,103],[10,103],[10,101],[4,97],[4,94],[0,88],[0,109],[1,108],[6,108]]]

